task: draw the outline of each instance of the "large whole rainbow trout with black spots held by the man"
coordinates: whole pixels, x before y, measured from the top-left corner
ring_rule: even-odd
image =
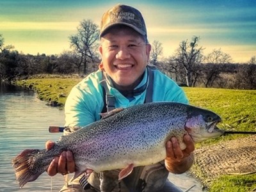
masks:
[[[180,148],[184,134],[195,143],[223,134],[216,127],[220,116],[206,109],[175,102],[154,102],[115,109],[83,129],[63,136],[51,150],[27,149],[12,160],[20,188],[36,180],[55,156],[73,153],[76,179],[91,169],[95,172],[122,169],[119,179],[135,166],[145,166],[166,157],[166,141],[175,136]]]

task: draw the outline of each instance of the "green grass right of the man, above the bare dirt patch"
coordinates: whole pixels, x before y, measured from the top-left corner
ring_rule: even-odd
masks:
[[[216,88],[184,88],[189,101],[195,106],[210,109],[221,116],[221,129],[256,131],[256,90],[227,90]],[[225,140],[241,135],[225,136]],[[223,138],[202,143],[214,143]]]

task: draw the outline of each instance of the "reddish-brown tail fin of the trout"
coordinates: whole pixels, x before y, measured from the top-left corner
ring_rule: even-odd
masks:
[[[26,149],[17,157],[12,159],[12,166],[15,168],[16,180],[20,188],[22,188],[27,182],[36,180],[39,175],[44,172],[44,170],[40,172],[40,168],[34,168],[35,162],[33,161],[33,157],[35,154],[38,154],[38,152],[40,152],[38,149]]]

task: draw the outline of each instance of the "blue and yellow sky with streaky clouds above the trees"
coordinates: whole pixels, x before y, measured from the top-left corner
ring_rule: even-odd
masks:
[[[140,10],[149,42],[159,41],[164,57],[193,36],[205,55],[221,49],[235,63],[256,56],[256,0],[0,0],[0,34],[24,54],[61,54],[83,19],[100,25],[118,3]]]

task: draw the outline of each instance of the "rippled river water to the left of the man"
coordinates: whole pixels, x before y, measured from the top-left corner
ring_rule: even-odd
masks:
[[[49,125],[64,124],[64,111],[45,106],[31,91],[0,84],[0,191],[58,191],[63,176],[43,173],[19,189],[12,158],[26,148],[44,148],[45,141],[57,141],[61,133],[49,133]]]

